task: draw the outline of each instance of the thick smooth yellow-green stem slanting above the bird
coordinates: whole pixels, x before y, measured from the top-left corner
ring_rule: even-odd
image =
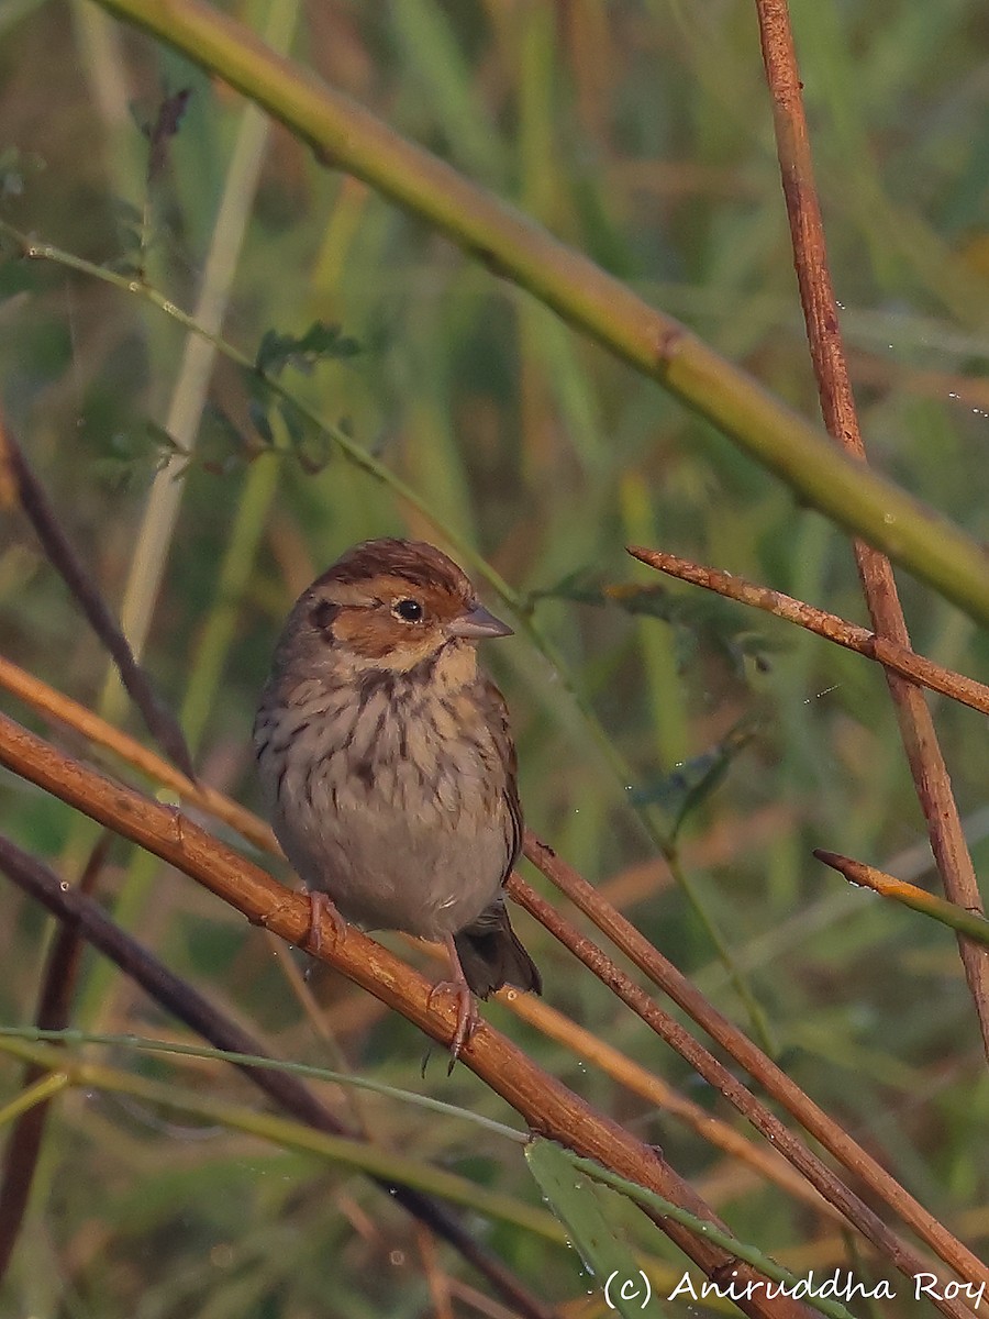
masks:
[[[364,179],[527,289],[707,417],[802,500],[989,621],[989,558],[972,539],[891,481],[836,454],[818,427],[621,281],[218,9],[199,0],[100,4],[224,78],[327,164]]]

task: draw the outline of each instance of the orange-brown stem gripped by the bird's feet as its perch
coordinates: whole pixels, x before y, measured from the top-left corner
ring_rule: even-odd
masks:
[[[236,907],[253,925],[264,926],[293,944],[311,935],[313,913],[302,894],[285,889],[181,813],[103,778],[3,715],[0,764],[154,852]],[[323,960],[402,1013],[427,1035],[450,1046],[456,1031],[455,1005],[438,1000],[423,976],[353,926],[348,926],[345,936],[339,938],[328,917],[323,918],[318,940]],[[578,1154],[597,1159],[699,1217],[723,1225],[654,1146],[642,1144],[592,1109],[487,1022],[481,1021],[472,1033],[460,1059],[501,1095],[533,1130],[560,1141]],[[708,1277],[717,1275],[725,1266],[732,1268],[733,1261],[712,1242],[659,1215],[654,1216],[654,1221]],[[758,1281],[758,1274],[748,1266],[740,1269],[740,1285],[746,1279]],[[740,1306],[745,1314],[766,1319],[806,1315],[803,1306],[783,1301],[767,1299],[757,1293]]]

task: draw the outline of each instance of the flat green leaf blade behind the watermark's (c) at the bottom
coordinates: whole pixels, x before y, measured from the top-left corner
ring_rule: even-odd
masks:
[[[525,1158],[550,1208],[570,1233],[584,1268],[605,1290],[609,1306],[622,1319],[661,1315],[632,1250],[609,1225],[614,1219],[613,1192],[579,1173],[572,1155],[553,1141],[534,1138],[525,1148]],[[644,1295],[647,1298],[645,1304]]]

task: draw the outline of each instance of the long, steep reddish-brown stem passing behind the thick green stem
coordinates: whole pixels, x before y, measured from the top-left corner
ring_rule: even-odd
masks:
[[[756,11],[773,96],[773,124],[790,219],[794,265],[824,423],[845,452],[864,466],[865,445],[858,427],[841,342],[837,299],[828,269],[787,0],[756,0]],[[862,539],[856,539],[854,554],[873,629],[878,636],[910,649],[893,566],[878,549]],[[944,892],[956,906],[982,914],[978,881],[927,700],[919,687],[893,669],[886,669],[886,682]],[[963,934],[957,938],[982,1034],[982,1047],[989,1058],[989,950]]]

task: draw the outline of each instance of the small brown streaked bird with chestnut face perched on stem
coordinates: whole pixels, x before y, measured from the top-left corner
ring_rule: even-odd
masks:
[[[446,944],[458,1057],[473,995],[542,992],[504,884],[522,813],[501,692],[476,642],[512,632],[422,541],[365,541],[295,601],[255,723],[274,832],[320,906]],[[473,993],[472,993],[473,991]]]

